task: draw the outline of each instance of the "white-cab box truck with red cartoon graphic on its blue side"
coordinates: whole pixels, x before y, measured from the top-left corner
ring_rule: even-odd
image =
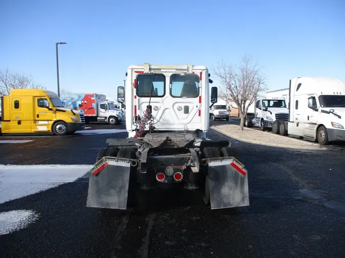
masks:
[[[86,123],[107,122],[109,124],[120,124],[126,120],[124,113],[116,109],[114,102],[106,100],[106,96],[102,94],[61,94],[60,99],[65,107],[81,110]]]

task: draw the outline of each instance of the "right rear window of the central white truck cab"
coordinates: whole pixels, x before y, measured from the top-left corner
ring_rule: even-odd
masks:
[[[196,74],[171,75],[171,96],[196,98],[199,96],[199,76]]]

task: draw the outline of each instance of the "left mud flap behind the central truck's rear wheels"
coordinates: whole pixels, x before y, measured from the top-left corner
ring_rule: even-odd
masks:
[[[126,210],[131,161],[104,157],[91,170],[86,207]]]

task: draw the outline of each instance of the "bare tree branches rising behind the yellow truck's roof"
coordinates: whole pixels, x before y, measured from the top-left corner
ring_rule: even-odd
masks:
[[[21,72],[12,72],[8,68],[0,69],[0,95],[10,94],[11,89],[45,89],[40,84],[35,84],[31,75]]]

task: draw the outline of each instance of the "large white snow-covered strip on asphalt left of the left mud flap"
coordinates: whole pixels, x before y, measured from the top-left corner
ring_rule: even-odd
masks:
[[[74,182],[93,165],[0,165],[0,203]]]

